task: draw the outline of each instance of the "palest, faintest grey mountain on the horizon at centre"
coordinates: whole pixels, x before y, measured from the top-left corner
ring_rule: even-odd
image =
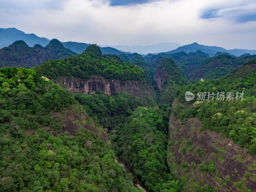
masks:
[[[123,52],[132,52],[132,53],[137,52],[139,54],[147,55],[148,53],[159,53],[159,52],[170,51],[178,48],[181,45],[178,43],[159,43],[159,44],[147,45],[147,46],[134,45],[131,47],[127,45],[100,45],[100,46],[113,47]]]

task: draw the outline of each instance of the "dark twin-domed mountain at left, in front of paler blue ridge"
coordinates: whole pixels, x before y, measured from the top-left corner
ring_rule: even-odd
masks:
[[[77,53],[66,49],[57,39],[52,39],[46,47],[40,44],[29,47],[24,41],[18,40],[0,49],[0,68],[32,68],[50,59],[65,59],[74,55]]]

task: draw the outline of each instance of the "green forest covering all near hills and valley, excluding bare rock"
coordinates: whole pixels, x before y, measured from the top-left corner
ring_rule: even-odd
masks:
[[[199,51],[161,56],[165,59],[159,56],[145,61],[137,53],[103,55],[99,46],[90,45],[82,54],[49,60],[32,69],[0,68],[0,192],[142,191],[132,186],[134,177],[148,192],[218,191],[216,186],[202,184],[205,173],[213,173],[218,164],[211,159],[201,161],[206,152],[194,148],[191,140],[172,138],[170,114],[182,127],[174,127],[174,132],[182,131],[194,118],[201,123],[198,132],[220,133],[255,158],[256,58],[208,58]],[[216,60],[223,64],[217,67],[217,74]],[[191,80],[189,65],[197,74]],[[198,78],[199,73],[206,78]],[[103,90],[82,94],[53,83],[63,77],[89,80],[91,75],[143,82],[140,88],[150,86],[150,91],[145,89],[139,95],[132,91],[110,96]],[[160,85],[156,83],[158,77],[162,78]],[[195,94],[194,100],[185,100],[187,91]],[[216,95],[208,98],[208,92],[234,95],[229,100],[217,100]],[[236,92],[243,93],[243,99],[236,100]],[[205,100],[197,100],[201,93],[205,93]],[[177,106],[172,105],[174,100]],[[180,146],[176,154],[171,151],[175,145]],[[171,163],[192,151],[200,163]],[[132,171],[125,172],[117,158]],[[248,167],[246,171],[254,172],[256,160]],[[193,175],[190,170],[202,172],[202,179],[180,176]],[[225,177],[224,184],[220,174],[213,177],[215,183],[222,187],[233,183],[240,192],[252,191],[245,186],[245,179],[256,181],[256,174],[245,172],[240,181],[231,175]]]

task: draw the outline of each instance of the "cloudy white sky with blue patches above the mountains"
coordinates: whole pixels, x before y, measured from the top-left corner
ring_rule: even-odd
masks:
[[[0,28],[62,42],[256,50],[255,0],[0,0]]]

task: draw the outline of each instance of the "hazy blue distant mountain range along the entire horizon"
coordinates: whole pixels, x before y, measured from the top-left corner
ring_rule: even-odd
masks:
[[[14,41],[23,40],[28,44],[28,46],[32,47],[35,44],[40,44],[45,47],[50,40],[45,37],[38,37],[35,34],[25,34],[23,31],[20,31],[16,28],[0,28],[0,48],[4,46],[8,46],[12,44]],[[76,53],[82,53],[84,50],[91,44],[86,43],[77,43],[77,42],[62,42],[65,48],[70,49]],[[159,54],[171,54],[177,52],[196,52],[197,50],[202,51],[208,54],[210,57],[216,55],[217,52],[226,52],[234,56],[241,56],[244,54],[256,54],[256,50],[248,50],[248,49],[230,49],[226,50],[222,47],[217,46],[206,46],[200,45],[198,43],[192,43],[181,46],[179,43],[159,43],[155,45],[134,45],[134,46],[127,46],[127,45],[101,45],[100,46],[101,52],[103,54],[124,54],[128,55],[131,53],[139,53],[142,56],[146,56],[148,53],[153,53],[152,55],[159,55]],[[148,59],[146,59],[148,60]]]

